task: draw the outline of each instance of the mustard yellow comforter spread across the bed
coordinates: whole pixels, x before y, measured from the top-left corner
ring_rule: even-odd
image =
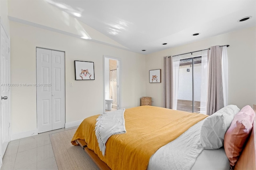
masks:
[[[102,156],[94,131],[98,116],[84,119],[71,143],[77,145],[75,140],[85,140],[88,148],[112,170],[146,170],[150,157],[156,150],[207,117],[154,106],[126,109],[126,133],[110,136],[106,142],[105,156]]]

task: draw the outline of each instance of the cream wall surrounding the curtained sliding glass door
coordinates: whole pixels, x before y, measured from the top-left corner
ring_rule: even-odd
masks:
[[[227,44],[230,45],[228,47],[228,104],[237,105],[240,109],[245,105],[252,106],[256,103],[256,27],[146,55],[146,73],[148,70],[162,69],[164,56]],[[163,106],[162,90],[162,83],[146,82],[146,96],[152,97],[154,101],[152,105]]]

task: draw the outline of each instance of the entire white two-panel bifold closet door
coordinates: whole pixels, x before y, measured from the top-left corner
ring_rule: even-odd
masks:
[[[36,48],[38,133],[64,128],[64,52]]]

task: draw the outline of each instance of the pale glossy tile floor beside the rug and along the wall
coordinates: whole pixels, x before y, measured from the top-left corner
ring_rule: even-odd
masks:
[[[58,170],[50,134],[72,128],[62,128],[12,140],[5,151],[1,170]]]

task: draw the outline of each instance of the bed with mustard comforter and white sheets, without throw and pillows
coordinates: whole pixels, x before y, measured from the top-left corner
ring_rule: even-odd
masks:
[[[156,117],[152,119],[152,117],[155,115]],[[174,115],[174,116],[169,117],[169,115]],[[178,116],[175,116],[175,115],[178,115]],[[99,115],[95,115],[94,117],[86,118],[84,121],[85,123],[81,123],[80,127],[78,127],[78,130],[77,130],[78,133],[76,133],[72,138],[72,144],[80,145],[85,150],[85,152],[88,153],[88,155],[92,158],[92,160],[94,160],[97,166],[102,170],[110,170],[110,169],[152,170],[152,169],[168,169],[164,167],[170,168],[169,164],[172,164],[170,163],[170,161],[169,161],[169,164],[167,165],[161,165],[160,166],[161,168],[159,168],[157,164],[159,164],[161,160],[163,163],[165,163],[166,160],[164,159],[172,160],[172,158],[178,157],[176,156],[177,151],[174,152],[173,150],[171,150],[170,152],[173,152],[172,154],[174,156],[168,158],[168,155],[170,155],[170,152],[167,152],[168,148],[175,149],[177,146],[175,143],[180,144],[180,146],[184,146],[184,152],[185,152],[186,151],[185,145],[186,143],[188,144],[189,142],[186,142],[186,140],[184,139],[189,138],[189,136],[192,136],[192,135],[188,135],[188,134],[191,134],[191,132],[192,134],[195,134],[195,132],[198,132],[198,129],[201,128],[204,119],[207,117],[206,115],[202,115],[202,114],[187,113],[183,111],[174,111],[171,109],[152,107],[152,106],[140,106],[140,107],[135,107],[131,109],[126,109],[124,114],[126,133],[110,136],[110,138],[108,139],[108,142],[106,142],[106,154],[103,156],[102,152],[99,150],[98,142],[94,132],[96,119],[98,116]],[[135,123],[137,119],[144,120],[144,121],[140,121],[140,123]],[[156,119],[158,119],[160,124],[156,123]],[[129,125],[129,124],[132,124],[132,125]],[[254,118],[254,124],[255,124],[255,118]],[[143,127],[142,129],[144,130],[142,131],[139,130],[138,133],[131,134],[131,132],[136,131],[136,129],[140,126],[142,126]],[[176,128],[176,130],[173,130],[173,128],[174,129]],[[157,135],[159,134],[159,136],[156,136],[156,134],[153,134],[151,132],[150,134],[144,134],[143,131],[145,131],[145,129],[156,131]],[[172,129],[172,130],[170,130],[170,132],[164,132],[162,134],[162,132],[160,132],[158,129],[161,129],[161,131],[167,131],[168,129]],[[197,135],[200,135],[200,132]],[[164,136],[168,136],[168,138]],[[194,138],[196,138],[194,140],[198,140],[198,136]],[[119,142],[121,141],[120,142],[121,144],[118,144],[117,141]],[[128,142],[130,146],[128,144],[124,144],[124,141]],[[240,155],[240,158],[238,159],[235,169],[238,169],[238,170],[239,169],[255,169],[256,167],[255,141],[256,141],[255,127],[253,127],[249,140],[246,143],[242,151],[242,154]],[[195,144],[197,145],[196,141],[195,141]],[[124,148],[122,147],[120,148],[120,145],[123,145]],[[167,148],[164,148],[164,147],[167,147]],[[160,150],[164,150],[166,152],[165,153],[159,152]],[[177,148],[176,150],[180,150],[180,148]],[[194,155],[194,150],[192,150],[191,153],[192,153],[191,155]],[[204,150],[200,148],[199,151],[198,150],[196,151],[195,155],[196,155],[196,157],[194,158],[195,160],[190,160],[188,158],[182,159],[183,161],[185,161],[185,163],[179,162],[176,160],[171,161],[171,162],[179,162],[178,164],[175,163],[175,165],[172,165],[172,166],[179,167],[180,164],[186,164],[186,161],[188,161],[190,162],[188,166],[184,166],[186,168],[183,167],[182,169],[192,169],[192,170],[200,169],[200,168],[205,169],[204,166],[208,167],[208,169],[213,168],[212,166],[214,166],[215,169],[216,168],[229,169],[229,161],[225,155],[225,151],[223,147],[215,150]],[[209,157],[212,159],[210,160],[208,159],[208,162],[207,162],[207,159],[205,158],[209,158]],[[219,162],[222,162],[222,163],[219,163]],[[134,164],[136,166],[134,166]],[[209,164],[212,164],[212,165],[209,166]],[[176,168],[173,168],[173,169],[176,169]]]

